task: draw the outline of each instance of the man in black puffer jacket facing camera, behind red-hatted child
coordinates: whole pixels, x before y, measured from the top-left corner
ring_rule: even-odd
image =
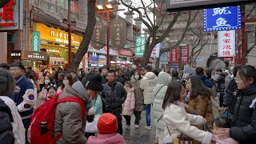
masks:
[[[126,100],[126,90],[120,82],[116,80],[114,70],[110,70],[107,74],[108,82],[103,85],[102,102],[103,112],[112,113],[118,119],[118,133],[122,134],[122,103]]]

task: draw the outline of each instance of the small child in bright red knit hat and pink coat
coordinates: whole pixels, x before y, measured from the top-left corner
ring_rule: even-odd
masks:
[[[90,136],[87,144],[124,144],[125,140],[122,135],[117,134],[118,120],[114,114],[105,113],[98,118],[97,136]]]

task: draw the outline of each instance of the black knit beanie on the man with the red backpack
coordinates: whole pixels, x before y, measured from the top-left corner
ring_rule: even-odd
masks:
[[[86,78],[82,79],[82,85],[90,90],[102,91],[102,75],[88,74]]]

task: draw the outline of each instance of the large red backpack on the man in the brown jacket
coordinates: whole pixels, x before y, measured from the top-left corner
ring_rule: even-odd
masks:
[[[60,95],[60,94],[58,94]],[[86,114],[85,103],[81,98],[67,97],[58,100],[58,96],[50,98],[50,100],[44,102],[31,115],[31,124],[28,130],[28,141],[30,144],[54,144],[59,138],[63,137],[63,134],[59,134],[54,138],[54,118],[55,109],[58,103],[62,102],[78,102],[82,107],[82,115]],[[41,122],[47,122],[48,130],[46,134],[41,135]]]

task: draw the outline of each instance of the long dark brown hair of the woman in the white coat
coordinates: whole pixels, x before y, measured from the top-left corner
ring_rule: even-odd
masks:
[[[166,109],[167,106],[170,106],[170,104],[176,104],[177,101],[180,101],[181,99],[181,91],[182,91],[182,83],[181,82],[170,82],[167,90],[166,90],[166,96],[163,99],[162,102],[162,109]]]

